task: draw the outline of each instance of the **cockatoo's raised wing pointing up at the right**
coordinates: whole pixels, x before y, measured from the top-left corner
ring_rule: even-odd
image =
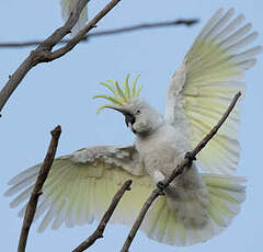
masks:
[[[233,16],[220,9],[207,22],[181,67],[175,71],[167,94],[167,121],[184,131],[194,147],[214,127],[233,95],[244,93],[239,79],[255,64],[261,47],[245,47],[255,39],[242,14]],[[206,172],[232,174],[239,162],[238,104],[219,133],[199,153],[197,163]]]

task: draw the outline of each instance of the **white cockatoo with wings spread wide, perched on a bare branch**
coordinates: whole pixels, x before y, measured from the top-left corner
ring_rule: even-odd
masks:
[[[124,195],[113,222],[132,225],[155,188],[218,122],[238,91],[239,79],[255,64],[261,47],[245,47],[256,37],[244,16],[220,9],[207,22],[167,93],[165,118],[139,98],[138,77],[123,89],[116,81],[102,83],[113,95],[104,107],[125,116],[135,134],[135,145],[83,148],[57,158],[43,187],[35,219],[44,216],[39,231],[62,224],[67,227],[100,219],[114,193],[127,179],[132,191]],[[205,242],[221,232],[240,210],[245,179],[232,176],[239,162],[239,105],[197,157],[196,164],[175,177],[164,196],[149,209],[140,229],[151,239],[173,245]],[[41,164],[30,168],[9,184],[5,195],[18,196],[11,207],[26,203]],[[199,173],[197,168],[206,173]],[[159,183],[160,185],[160,183]],[[25,206],[19,213],[23,216]]]

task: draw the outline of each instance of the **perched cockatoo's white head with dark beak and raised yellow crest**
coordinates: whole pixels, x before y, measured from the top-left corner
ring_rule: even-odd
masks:
[[[132,88],[129,88],[129,75],[127,75],[123,82],[124,90],[121,89],[117,81],[102,82],[101,84],[111,90],[113,95],[96,95],[94,98],[103,98],[112,102],[112,104],[99,107],[98,113],[105,107],[118,111],[125,116],[125,123],[134,134],[146,136],[158,128],[163,123],[163,118],[152,106],[139,98],[142,85],[136,88],[138,78],[139,76],[135,78]]]

